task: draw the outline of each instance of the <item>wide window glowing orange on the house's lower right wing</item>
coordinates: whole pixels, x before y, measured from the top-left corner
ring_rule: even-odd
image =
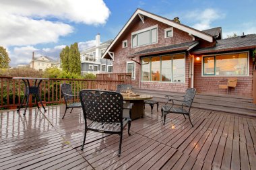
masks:
[[[203,75],[248,75],[248,52],[203,56]]]

